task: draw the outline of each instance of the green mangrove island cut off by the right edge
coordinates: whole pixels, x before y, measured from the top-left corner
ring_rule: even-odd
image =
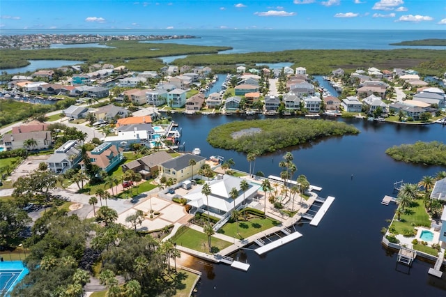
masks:
[[[426,165],[446,165],[446,145],[442,142],[415,142],[392,146],[385,151],[397,161]]]

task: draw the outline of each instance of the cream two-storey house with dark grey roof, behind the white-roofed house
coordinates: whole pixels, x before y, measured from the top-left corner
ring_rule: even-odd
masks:
[[[193,168],[189,163],[192,159],[195,160]],[[201,155],[185,153],[171,160],[162,162],[160,164],[160,176],[164,176],[167,179],[172,178],[179,183],[186,179],[192,179],[192,174],[194,174],[194,176],[197,175],[197,172],[205,163],[206,158],[201,157]]]

